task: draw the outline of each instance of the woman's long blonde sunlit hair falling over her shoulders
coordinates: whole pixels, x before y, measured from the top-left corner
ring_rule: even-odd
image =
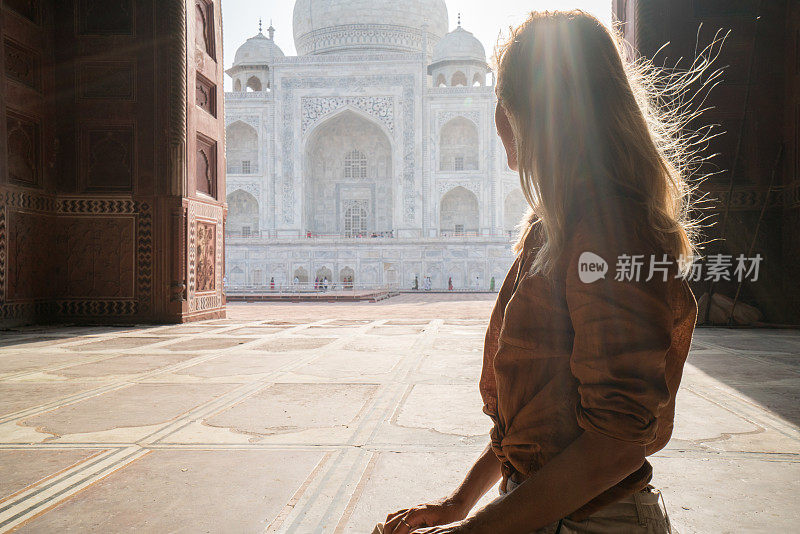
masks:
[[[684,265],[696,253],[685,110],[664,109],[652,69],[625,55],[620,38],[579,10],[533,12],[498,46],[497,97],[531,206],[515,251],[539,226],[534,272],[552,274],[581,202],[611,195],[641,208],[639,230],[664,252]]]

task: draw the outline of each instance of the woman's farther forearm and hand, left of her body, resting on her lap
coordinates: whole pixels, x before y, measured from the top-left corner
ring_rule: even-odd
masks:
[[[469,514],[483,495],[500,478],[500,461],[487,445],[452,495],[441,501],[407,508],[389,515],[384,534],[408,534],[411,529],[445,525],[459,521]]]

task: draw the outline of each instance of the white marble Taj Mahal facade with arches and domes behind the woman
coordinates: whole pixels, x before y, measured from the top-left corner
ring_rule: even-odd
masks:
[[[297,0],[227,74],[229,288],[499,288],[527,204],[481,42],[444,0]]]

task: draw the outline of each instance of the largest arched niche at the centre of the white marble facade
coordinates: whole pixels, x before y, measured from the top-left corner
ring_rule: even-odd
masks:
[[[317,126],[306,142],[303,175],[307,231],[355,236],[393,229],[392,142],[372,119],[345,110]]]

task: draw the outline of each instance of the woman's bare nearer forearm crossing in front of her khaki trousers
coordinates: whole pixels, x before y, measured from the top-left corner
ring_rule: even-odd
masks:
[[[503,499],[451,529],[430,532],[531,532],[577,510],[644,463],[645,447],[586,431]],[[425,530],[415,531],[424,533]]]

